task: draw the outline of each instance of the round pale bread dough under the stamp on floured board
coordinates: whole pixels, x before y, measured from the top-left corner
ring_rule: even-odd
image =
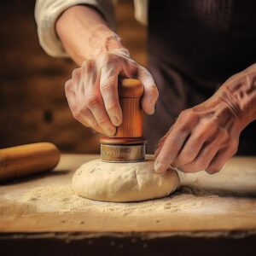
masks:
[[[179,186],[175,170],[154,172],[154,161],[108,163],[100,159],[80,166],[73,175],[76,194],[97,201],[145,201],[170,195]]]

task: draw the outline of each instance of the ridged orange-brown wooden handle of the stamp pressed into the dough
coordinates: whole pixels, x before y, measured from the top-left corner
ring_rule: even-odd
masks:
[[[114,137],[142,137],[143,111],[141,97],[143,84],[137,79],[122,79],[119,82],[119,102],[123,113],[123,122],[117,128]]]

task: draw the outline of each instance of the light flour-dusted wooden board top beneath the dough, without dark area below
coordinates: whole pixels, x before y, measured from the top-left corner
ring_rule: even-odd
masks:
[[[53,172],[1,184],[0,232],[256,230],[256,158],[235,157],[215,175],[179,173],[182,188],[161,200],[108,203],[74,195],[71,187],[73,172],[97,157],[63,154]]]

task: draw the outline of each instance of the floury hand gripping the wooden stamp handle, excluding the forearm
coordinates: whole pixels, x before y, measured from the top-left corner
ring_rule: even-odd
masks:
[[[87,127],[113,136],[122,123],[118,77],[139,79],[144,86],[142,107],[154,113],[159,93],[148,70],[133,61],[126,49],[114,49],[84,61],[65,84],[67,102],[75,119]]]

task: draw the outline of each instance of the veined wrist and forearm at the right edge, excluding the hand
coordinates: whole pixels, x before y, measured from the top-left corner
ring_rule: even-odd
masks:
[[[230,106],[242,129],[256,119],[256,64],[228,79],[215,96]]]

